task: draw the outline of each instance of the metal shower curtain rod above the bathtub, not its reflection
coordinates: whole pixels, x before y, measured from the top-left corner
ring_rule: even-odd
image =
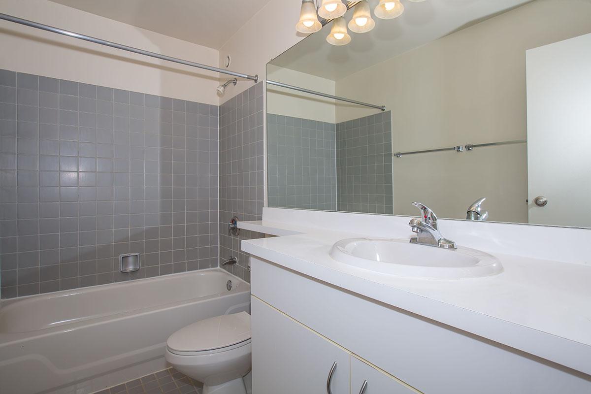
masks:
[[[79,40],[90,41],[90,43],[105,45],[107,47],[117,48],[117,49],[121,49],[121,50],[132,52],[132,53],[137,53],[137,54],[144,55],[144,56],[155,57],[155,58],[158,58],[161,60],[172,61],[173,63],[184,64],[185,66],[197,67],[197,69],[215,71],[216,73],[228,74],[228,75],[231,75],[234,77],[250,79],[250,80],[253,80],[255,83],[258,82],[258,75],[252,76],[252,75],[243,74],[243,73],[236,73],[236,72],[230,71],[230,70],[219,69],[218,67],[207,66],[206,64],[194,63],[193,61],[183,60],[183,59],[179,59],[179,58],[171,57],[171,56],[165,56],[165,55],[161,55],[161,54],[155,53],[155,52],[144,51],[142,49],[128,47],[127,45],[112,43],[111,41],[101,40],[100,38],[96,38],[96,37],[90,37],[89,35],[79,34],[79,33],[73,32],[73,31],[63,30],[63,29],[60,29],[57,27],[48,26],[48,25],[44,25],[41,23],[33,22],[33,21],[28,21],[27,19],[13,17],[12,15],[0,13],[0,19],[4,19],[5,21],[9,21],[9,22],[15,22],[15,23],[29,26],[29,27],[34,27],[34,28],[37,28],[40,30],[45,30],[45,31],[50,31],[50,32],[54,32],[57,34],[67,35],[68,37],[78,38]]]

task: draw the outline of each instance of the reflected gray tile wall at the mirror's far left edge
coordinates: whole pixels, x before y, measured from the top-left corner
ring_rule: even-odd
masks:
[[[270,207],[336,210],[335,123],[268,114]]]

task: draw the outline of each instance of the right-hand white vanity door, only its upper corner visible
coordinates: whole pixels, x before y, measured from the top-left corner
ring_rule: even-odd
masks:
[[[363,383],[367,382],[362,392]],[[351,394],[417,394],[398,380],[351,356]]]

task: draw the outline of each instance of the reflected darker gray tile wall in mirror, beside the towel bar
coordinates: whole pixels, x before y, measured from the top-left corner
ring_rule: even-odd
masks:
[[[339,211],[392,214],[391,111],[336,125]]]

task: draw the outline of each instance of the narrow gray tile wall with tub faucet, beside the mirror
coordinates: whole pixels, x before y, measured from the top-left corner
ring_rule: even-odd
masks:
[[[231,273],[250,282],[248,255],[241,252],[243,239],[264,235],[241,230],[229,233],[233,216],[261,220],[264,205],[263,83],[259,82],[220,106],[220,264],[230,256],[238,265],[226,266]]]

